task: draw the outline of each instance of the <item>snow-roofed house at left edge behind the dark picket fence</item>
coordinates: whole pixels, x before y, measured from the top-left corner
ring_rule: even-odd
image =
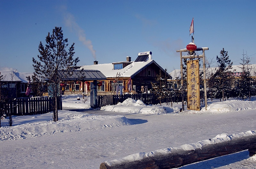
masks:
[[[1,76],[1,90],[7,92],[9,98],[28,97],[26,90],[28,87],[28,80],[26,77],[32,77],[33,73],[20,73],[14,71],[2,71]],[[3,93],[2,93],[3,94]],[[33,95],[33,88],[30,95]]]

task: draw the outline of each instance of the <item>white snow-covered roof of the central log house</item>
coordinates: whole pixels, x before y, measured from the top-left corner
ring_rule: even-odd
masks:
[[[85,65],[85,66],[82,66],[80,69],[99,70],[107,78],[114,78],[116,77],[116,74],[119,74],[119,73],[120,73],[120,77],[132,77],[132,75],[139,73],[140,70],[142,70],[144,67],[152,63],[155,63],[156,65],[158,65],[154,60],[148,60],[146,62],[132,62],[128,66],[124,67],[123,69],[116,69],[116,70],[114,70],[114,66],[112,63]]]

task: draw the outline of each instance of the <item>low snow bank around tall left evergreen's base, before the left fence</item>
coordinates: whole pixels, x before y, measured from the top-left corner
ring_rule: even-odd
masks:
[[[52,112],[33,116],[13,116],[12,127],[0,128],[0,141],[133,124],[124,116],[100,116],[68,110],[60,110],[58,115],[58,122],[52,121]],[[8,121],[5,119],[1,123],[4,126]]]

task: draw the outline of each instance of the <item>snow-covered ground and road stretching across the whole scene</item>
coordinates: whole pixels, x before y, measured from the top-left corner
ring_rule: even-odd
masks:
[[[52,113],[13,116],[12,127],[8,119],[1,121],[1,168],[99,168],[105,161],[256,131],[255,97],[208,100],[207,110],[180,112],[181,103],[145,105],[132,99],[93,110],[90,99],[77,96],[63,96],[58,122]],[[256,168],[256,156],[242,151],[182,168]]]

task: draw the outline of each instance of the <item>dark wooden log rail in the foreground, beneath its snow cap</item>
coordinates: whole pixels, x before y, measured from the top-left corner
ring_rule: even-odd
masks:
[[[178,147],[168,154],[156,153],[152,157],[142,158],[137,161],[123,160],[110,166],[107,162],[104,162],[100,164],[100,169],[169,169],[247,149],[249,149],[250,155],[253,155],[256,150],[256,135],[232,138],[230,141],[217,144],[206,144],[201,149],[197,148],[189,151]]]

